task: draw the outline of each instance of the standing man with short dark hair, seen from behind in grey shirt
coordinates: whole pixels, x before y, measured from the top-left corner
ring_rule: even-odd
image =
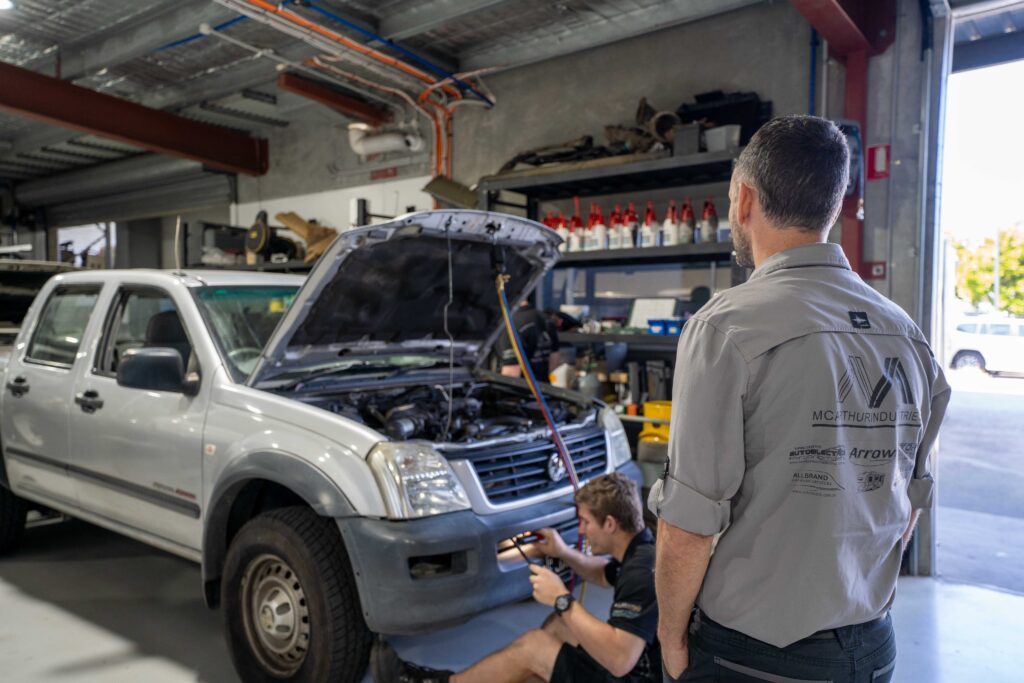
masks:
[[[672,679],[892,676],[889,607],[949,387],[907,314],[825,241],[848,166],[831,122],[791,116],[733,172],[736,259],[756,267],[683,330],[650,494]]]

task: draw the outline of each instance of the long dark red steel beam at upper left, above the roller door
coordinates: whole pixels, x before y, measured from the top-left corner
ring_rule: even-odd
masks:
[[[262,138],[190,121],[174,114],[82,88],[27,69],[0,63],[0,110],[160,154],[191,159],[222,171],[263,175]]]

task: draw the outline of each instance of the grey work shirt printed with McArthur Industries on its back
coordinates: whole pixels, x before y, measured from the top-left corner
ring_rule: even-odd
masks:
[[[921,331],[837,245],[775,254],[710,301],[680,338],[649,499],[724,531],[697,605],[777,647],[882,615],[948,399]]]

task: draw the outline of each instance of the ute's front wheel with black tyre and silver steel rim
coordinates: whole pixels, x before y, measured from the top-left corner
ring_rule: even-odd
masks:
[[[305,507],[251,520],[221,584],[225,630],[244,681],[360,680],[371,634],[337,526]]]

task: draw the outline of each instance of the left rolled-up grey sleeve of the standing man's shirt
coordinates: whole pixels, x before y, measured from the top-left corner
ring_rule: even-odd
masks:
[[[712,536],[729,525],[745,467],[748,381],[746,361],[732,341],[707,322],[686,324],[676,354],[669,464],[647,502],[673,526]]]

